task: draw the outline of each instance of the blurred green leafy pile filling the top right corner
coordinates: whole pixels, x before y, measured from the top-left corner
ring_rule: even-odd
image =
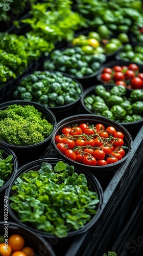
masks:
[[[105,24],[114,33],[127,33],[143,26],[140,0],[76,0],[74,6],[86,18],[86,27]]]

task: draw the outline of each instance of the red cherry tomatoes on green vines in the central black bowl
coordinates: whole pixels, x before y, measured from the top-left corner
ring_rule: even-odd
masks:
[[[55,143],[67,158],[85,165],[107,165],[125,156],[124,134],[102,123],[63,127]]]

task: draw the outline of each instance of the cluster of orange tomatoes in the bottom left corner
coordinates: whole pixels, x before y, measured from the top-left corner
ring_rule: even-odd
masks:
[[[7,242],[7,243],[6,243]],[[2,256],[34,256],[34,250],[25,246],[25,239],[19,234],[12,234],[8,241],[1,236],[0,255]]]

